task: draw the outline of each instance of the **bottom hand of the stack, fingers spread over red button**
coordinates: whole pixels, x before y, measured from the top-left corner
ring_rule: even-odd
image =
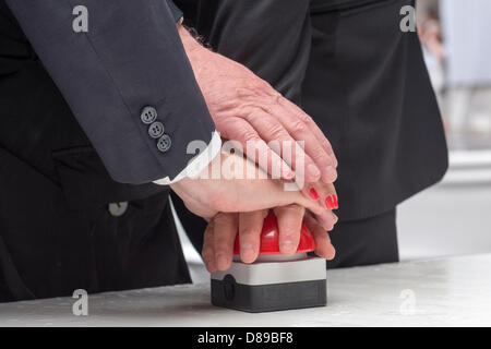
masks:
[[[279,250],[282,254],[291,255],[297,251],[300,227],[303,222],[315,240],[315,253],[326,260],[334,258],[335,249],[328,233],[316,220],[298,205],[274,209],[278,220]],[[260,237],[264,218],[268,209],[251,213],[219,213],[206,227],[202,256],[209,273],[226,270],[230,267],[233,255],[233,241],[237,233],[240,239],[240,257],[243,263],[252,263],[260,251]],[[332,230],[333,227],[331,227]]]

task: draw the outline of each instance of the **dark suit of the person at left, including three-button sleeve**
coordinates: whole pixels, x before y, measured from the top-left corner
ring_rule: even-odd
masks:
[[[15,17],[0,0],[0,302],[190,281],[169,188],[108,173],[172,177],[188,140],[214,129],[177,41],[180,11],[76,3],[89,10],[86,36],[74,36],[68,1],[9,1]],[[167,153],[141,105],[157,108]]]

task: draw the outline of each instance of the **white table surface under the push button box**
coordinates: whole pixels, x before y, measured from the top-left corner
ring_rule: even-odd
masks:
[[[250,314],[185,285],[0,304],[0,326],[491,326],[491,254],[328,270],[327,306]]]

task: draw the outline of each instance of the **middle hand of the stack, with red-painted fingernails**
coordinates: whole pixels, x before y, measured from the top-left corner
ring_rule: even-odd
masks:
[[[337,217],[324,203],[307,198],[298,189],[286,190],[287,184],[294,185],[268,179],[241,155],[220,153],[199,178],[184,178],[170,186],[188,209],[208,220],[219,212],[247,213],[298,204],[312,212],[325,229],[335,224]],[[333,184],[324,184],[322,194],[336,195]]]

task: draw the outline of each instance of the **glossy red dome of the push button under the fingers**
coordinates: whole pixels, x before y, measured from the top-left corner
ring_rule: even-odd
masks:
[[[264,219],[263,230],[261,232],[260,254],[280,254],[278,245],[278,221],[271,210]],[[315,241],[309,229],[302,224],[300,231],[300,242],[297,253],[311,252],[315,250]],[[233,244],[233,254],[240,254],[239,236],[236,237]]]

